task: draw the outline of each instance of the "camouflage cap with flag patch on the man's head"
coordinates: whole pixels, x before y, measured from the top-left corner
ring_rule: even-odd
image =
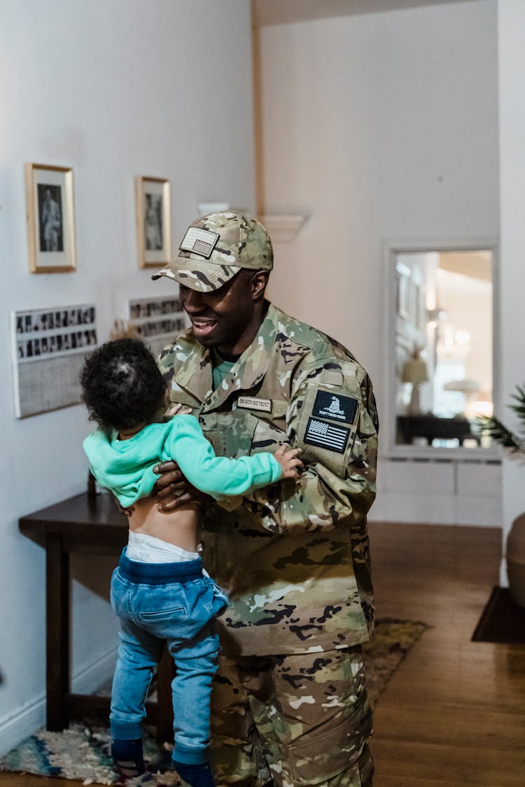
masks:
[[[167,276],[207,293],[218,290],[241,268],[271,271],[272,241],[257,219],[224,210],[192,221],[175,260],[151,278]]]

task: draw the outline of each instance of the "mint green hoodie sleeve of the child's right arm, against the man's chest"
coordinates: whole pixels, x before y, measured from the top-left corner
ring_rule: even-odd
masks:
[[[271,453],[229,459],[216,456],[194,416],[175,416],[164,452],[176,461],[193,486],[216,500],[243,495],[281,478],[279,462]]]

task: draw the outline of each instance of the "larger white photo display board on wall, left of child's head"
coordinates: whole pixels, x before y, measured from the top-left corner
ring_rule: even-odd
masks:
[[[98,343],[94,304],[11,312],[17,418],[80,402],[79,372]]]

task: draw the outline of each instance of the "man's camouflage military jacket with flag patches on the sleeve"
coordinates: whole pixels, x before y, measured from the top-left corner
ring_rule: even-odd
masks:
[[[305,472],[203,506],[205,566],[231,598],[228,655],[330,651],[373,625],[366,515],[375,497],[377,416],[368,375],[342,345],[269,305],[252,345],[213,391],[191,331],[159,361],[172,402],[198,416],[218,456],[302,449]]]

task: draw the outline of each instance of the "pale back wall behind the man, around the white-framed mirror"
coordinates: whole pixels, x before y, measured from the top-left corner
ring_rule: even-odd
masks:
[[[499,235],[497,0],[272,25],[260,61],[261,212],[307,216],[269,294],[356,354],[381,421],[384,245]],[[401,468],[386,434],[372,518],[501,525],[499,467]]]

